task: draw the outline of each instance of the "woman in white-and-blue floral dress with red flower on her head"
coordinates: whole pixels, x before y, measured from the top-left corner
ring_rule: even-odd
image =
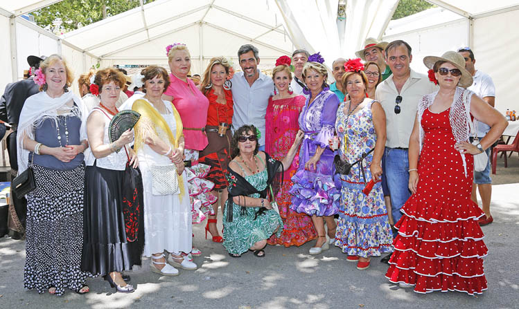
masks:
[[[360,71],[362,64],[350,60],[344,66],[343,87],[351,100],[342,102],[337,109],[338,152],[341,159],[349,163],[365,158],[362,164],[353,165],[349,174],[341,175],[340,218],[335,245],[348,254],[346,261],[357,262],[357,268],[364,270],[369,268],[370,256],[393,252],[393,237],[380,185],[385,113],[379,102],[366,97],[367,77]],[[373,189],[366,195],[362,190],[370,180],[374,182]]]

